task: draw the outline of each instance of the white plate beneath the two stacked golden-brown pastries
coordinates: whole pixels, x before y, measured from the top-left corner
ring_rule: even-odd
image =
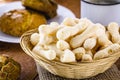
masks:
[[[21,4],[21,1],[11,2],[11,3],[7,3],[3,6],[1,6],[0,7],[0,16],[5,12],[8,12],[8,11],[14,10],[14,9],[24,9],[24,7]],[[75,15],[68,8],[58,5],[57,16],[48,20],[48,23],[50,23],[52,21],[61,23],[65,17],[75,18]],[[0,31],[0,41],[9,42],[9,43],[19,43],[20,38],[7,35],[7,34],[3,33],[2,31]]]

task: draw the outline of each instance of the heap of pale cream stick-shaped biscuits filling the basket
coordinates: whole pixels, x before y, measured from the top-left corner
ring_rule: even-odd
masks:
[[[87,18],[66,18],[61,24],[41,25],[38,31],[30,38],[32,52],[48,60],[92,62],[120,49],[120,27],[115,22],[105,27]]]

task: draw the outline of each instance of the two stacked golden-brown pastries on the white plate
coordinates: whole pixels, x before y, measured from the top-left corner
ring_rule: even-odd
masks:
[[[11,10],[0,16],[2,32],[20,37],[57,15],[57,3],[54,0],[22,0],[22,4],[25,9]]]

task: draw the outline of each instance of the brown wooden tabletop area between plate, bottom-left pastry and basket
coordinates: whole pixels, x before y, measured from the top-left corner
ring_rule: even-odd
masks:
[[[33,80],[36,75],[34,60],[23,52],[19,44],[0,42],[0,54],[12,57],[21,64],[21,76],[19,80]]]

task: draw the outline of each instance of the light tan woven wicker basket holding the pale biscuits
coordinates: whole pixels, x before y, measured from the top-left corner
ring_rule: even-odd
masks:
[[[38,32],[37,29],[28,31],[22,35],[20,41],[22,49],[26,54],[31,56],[37,64],[39,64],[39,66],[42,66],[49,72],[61,77],[83,79],[95,76],[109,69],[120,57],[120,51],[117,51],[107,58],[94,60],[93,62],[76,62],[66,64],[59,61],[49,61],[31,51],[33,46],[30,43],[30,36],[34,32]]]

